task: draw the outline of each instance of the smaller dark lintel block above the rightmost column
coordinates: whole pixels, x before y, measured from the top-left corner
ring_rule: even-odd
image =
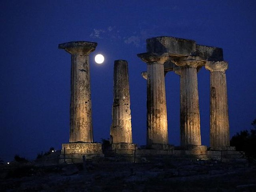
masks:
[[[223,61],[222,48],[196,45],[196,52],[192,55],[199,56],[206,61]]]

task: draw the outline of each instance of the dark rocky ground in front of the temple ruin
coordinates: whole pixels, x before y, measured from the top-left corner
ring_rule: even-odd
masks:
[[[256,165],[246,162],[163,160],[0,167],[0,191],[255,192]]]

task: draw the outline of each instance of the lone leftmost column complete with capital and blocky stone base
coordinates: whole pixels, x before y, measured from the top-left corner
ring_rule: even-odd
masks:
[[[62,144],[62,155],[82,162],[82,155],[102,155],[101,144],[93,142],[89,54],[97,43],[76,41],[59,44],[71,54],[71,101],[69,144]]]

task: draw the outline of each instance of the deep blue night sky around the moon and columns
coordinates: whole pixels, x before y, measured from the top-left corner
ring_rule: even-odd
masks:
[[[146,38],[174,36],[223,48],[230,136],[256,118],[254,0],[3,0],[0,6],[0,158],[32,159],[69,140],[70,54],[58,44],[97,42],[90,55],[94,141],[109,138],[114,60],[128,61],[133,141],[146,143]],[[105,56],[102,65],[94,56]],[[179,144],[179,77],[166,75],[170,144]],[[209,71],[198,73],[202,144],[209,144]]]

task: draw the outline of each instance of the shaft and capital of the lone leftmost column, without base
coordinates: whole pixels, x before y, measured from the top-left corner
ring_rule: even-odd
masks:
[[[71,102],[69,142],[93,142],[89,54],[97,43],[77,41],[59,44],[71,54]]]

